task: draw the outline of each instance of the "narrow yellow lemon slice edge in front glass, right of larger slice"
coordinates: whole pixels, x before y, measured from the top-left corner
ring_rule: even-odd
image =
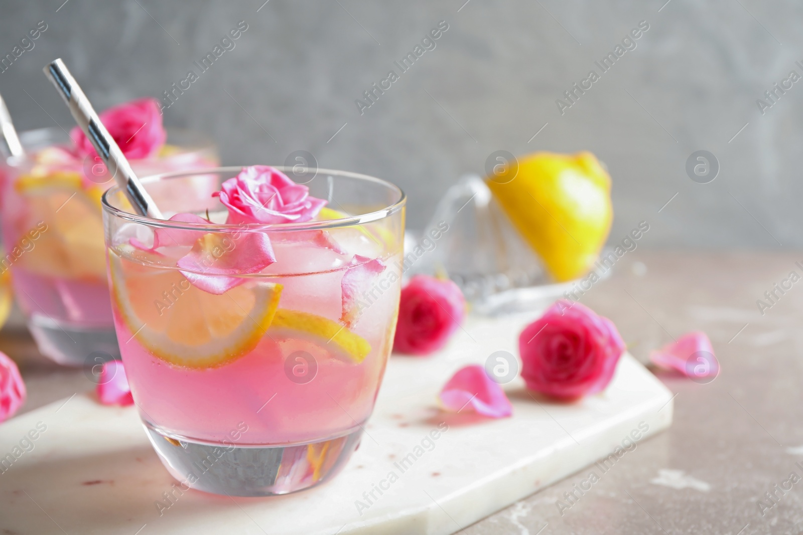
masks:
[[[276,310],[267,334],[274,339],[308,340],[355,364],[361,363],[371,352],[371,344],[365,338],[340,323],[298,310]]]

